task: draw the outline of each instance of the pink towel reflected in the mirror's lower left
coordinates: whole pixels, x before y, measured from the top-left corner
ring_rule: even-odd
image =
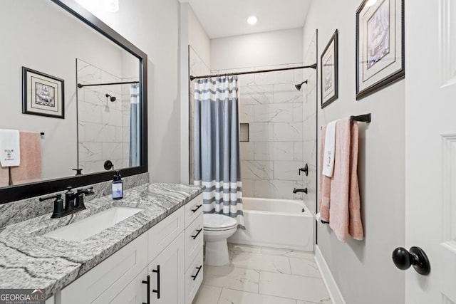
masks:
[[[38,182],[42,179],[41,135],[39,132],[19,132],[21,165],[11,167],[13,184]],[[8,186],[9,168],[0,167],[0,187]]]

